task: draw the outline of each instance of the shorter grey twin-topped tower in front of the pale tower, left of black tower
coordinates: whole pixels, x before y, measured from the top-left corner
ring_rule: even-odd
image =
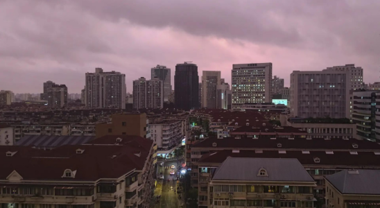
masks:
[[[146,80],[144,77],[133,81],[133,108],[164,107],[164,83],[159,78]]]

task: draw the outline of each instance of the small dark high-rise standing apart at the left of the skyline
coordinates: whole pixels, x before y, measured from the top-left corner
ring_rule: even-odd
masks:
[[[48,106],[61,108],[67,105],[67,87],[66,85],[52,85],[47,88]]]

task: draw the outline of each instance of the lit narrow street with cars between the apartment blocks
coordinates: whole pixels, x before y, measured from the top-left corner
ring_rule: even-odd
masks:
[[[175,169],[171,169],[171,165],[175,165]],[[175,175],[170,175],[171,171],[174,171]],[[157,173],[158,174],[163,173],[164,180],[157,179],[157,187],[155,189],[154,197],[161,195],[161,200],[157,204],[152,203],[150,207],[155,207],[155,208],[180,207],[180,200],[178,199],[178,194],[174,192],[174,190],[177,189],[178,187],[178,181],[176,180],[177,172],[178,172],[178,166],[177,166],[176,160],[164,162],[163,166],[158,167]]]

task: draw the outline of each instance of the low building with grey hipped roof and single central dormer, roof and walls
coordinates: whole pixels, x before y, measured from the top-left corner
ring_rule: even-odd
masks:
[[[313,207],[316,182],[297,159],[227,157],[202,171],[199,207]]]

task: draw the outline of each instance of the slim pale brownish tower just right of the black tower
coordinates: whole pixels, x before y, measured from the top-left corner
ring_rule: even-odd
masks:
[[[202,72],[202,107],[216,108],[216,86],[221,84],[221,71]]]

